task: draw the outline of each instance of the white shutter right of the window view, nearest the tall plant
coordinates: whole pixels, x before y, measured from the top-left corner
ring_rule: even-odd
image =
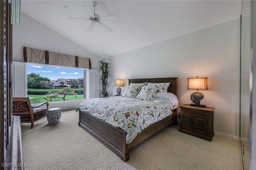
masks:
[[[99,71],[88,69],[86,70],[86,98],[93,99],[99,97]]]

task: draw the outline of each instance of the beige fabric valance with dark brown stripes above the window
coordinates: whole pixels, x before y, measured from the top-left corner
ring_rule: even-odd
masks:
[[[28,47],[23,47],[23,54],[24,62],[28,63],[49,64],[76,68],[92,68],[89,58],[32,49]]]

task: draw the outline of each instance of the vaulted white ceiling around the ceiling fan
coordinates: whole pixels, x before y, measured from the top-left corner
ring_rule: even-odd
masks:
[[[102,21],[114,29],[108,32],[88,18],[82,5],[88,0],[22,0],[21,12],[105,58],[145,47],[186,33],[204,29],[241,15],[241,0],[96,0],[96,14],[116,15],[117,20]],[[67,8],[65,8],[65,6]]]

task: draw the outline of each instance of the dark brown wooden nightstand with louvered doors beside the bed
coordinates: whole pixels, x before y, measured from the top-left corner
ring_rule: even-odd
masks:
[[[212,141],[213,107],[196,107],[182,104],[180,107],[180,132]]]

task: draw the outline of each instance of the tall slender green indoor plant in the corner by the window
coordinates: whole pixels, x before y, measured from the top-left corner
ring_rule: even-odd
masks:
[[[108,92],[108,88],[110,87],[110,81],[109,78],[111,76],[110,74],[110,63],[106,62],[106,59],[102,59],[101,61],[97,62],[99,64],[98,70],[101,72],[100,75],[100,97],[106,98],[110,95]]]

